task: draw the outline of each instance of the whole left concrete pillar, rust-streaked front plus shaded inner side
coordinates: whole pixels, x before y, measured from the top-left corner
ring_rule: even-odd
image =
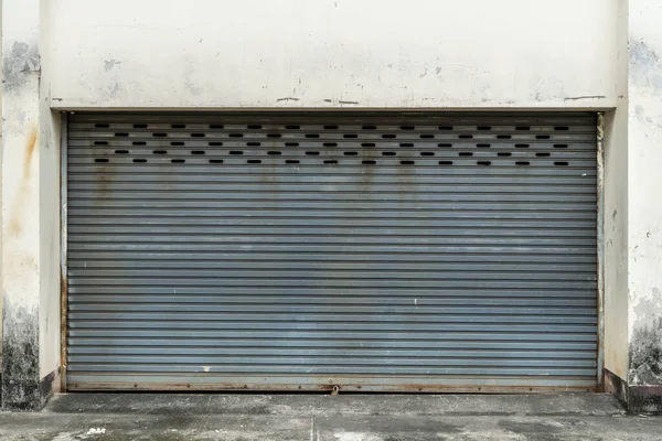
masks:
[[[39,408],[60,366],[60,146],[46,99],[47,2],[4,0],[2,404]],[[46,390],[44,392],[44,390]]]

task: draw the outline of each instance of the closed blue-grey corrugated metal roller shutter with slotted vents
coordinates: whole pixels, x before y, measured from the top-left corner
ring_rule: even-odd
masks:
[[[75,115],[68,387],[591,388],[595,126]]]

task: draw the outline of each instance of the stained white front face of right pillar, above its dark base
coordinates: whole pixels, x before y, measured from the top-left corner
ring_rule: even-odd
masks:
[[[629,4],[629,381],[662,385],[662,3]]]

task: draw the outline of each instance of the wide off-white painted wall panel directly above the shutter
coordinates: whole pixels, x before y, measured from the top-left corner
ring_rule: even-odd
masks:
[[[615,107],[617,0],[50,0],[58,108]]]

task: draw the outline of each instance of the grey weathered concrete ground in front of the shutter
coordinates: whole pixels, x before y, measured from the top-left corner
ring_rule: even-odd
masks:
[[[0,440],[662,440],[609,395],[68,394],[0,412]]]

